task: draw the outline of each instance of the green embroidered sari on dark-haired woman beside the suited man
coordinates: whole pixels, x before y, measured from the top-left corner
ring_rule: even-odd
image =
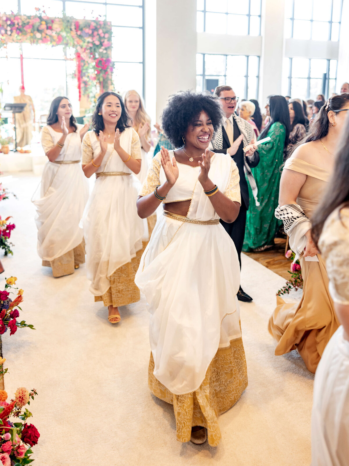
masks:
[[[273,245],[275,233],[282,224],[274,215],[279,203],[280,166],[283,163],[286,137],[286,130],[282,123],[273,123],[268,136],[271,137],[271,141],[258,147],[261,160],[255,168],[251,169],[258,187],[258,200],[261,205],[257,207],[253,202],[252,190],[248,185],[252,201],[247,212],[243,251]]]

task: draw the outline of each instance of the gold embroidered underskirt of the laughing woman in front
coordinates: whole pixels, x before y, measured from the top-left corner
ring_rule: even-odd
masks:
[[[173,404],[177,440],[188,442],[192,426],[201,425],[207,428],[209,445],[217,446],[221,439],[217,418],[239,400],[248,384],[242,338],[232,340],[227,348],[218,349],[205,379],[194,392],[171,393],[155,378],[153,371],[154,359],[150,354],[149,388],[155,397]]]

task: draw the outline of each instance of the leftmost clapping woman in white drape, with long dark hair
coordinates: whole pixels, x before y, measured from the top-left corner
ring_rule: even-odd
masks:
[[[38,254],[54,277],[72,274],[85,262],[83,231],[79,223],[88,198],[81,171],[81,140],[88,124],[79,125],[67,97],[51,103],[47,126],[41,131],[48,162],[42,173],[40,194],[33,196],[38,227]]]

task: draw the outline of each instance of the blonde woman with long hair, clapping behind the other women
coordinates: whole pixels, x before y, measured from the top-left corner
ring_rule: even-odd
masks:
[[[141,96],[135,90],[128,90],[124,99],[128,116],[132,120],[132,127],[137,131],[141,141],[142,164],[141,171],[136,177],[143,183],[147,176],[148,160],[147,154],[150,150],[150,118],[144,109]]]

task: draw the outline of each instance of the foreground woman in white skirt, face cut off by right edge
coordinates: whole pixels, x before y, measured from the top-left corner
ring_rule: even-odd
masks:
[[[347,114],[348,112],[343,112]],[[326,261],[329,293],[340,327],[316,369],[311,421],[312,464],[349,458],[349,117],[329,186],[312,217],[312,238]]]

